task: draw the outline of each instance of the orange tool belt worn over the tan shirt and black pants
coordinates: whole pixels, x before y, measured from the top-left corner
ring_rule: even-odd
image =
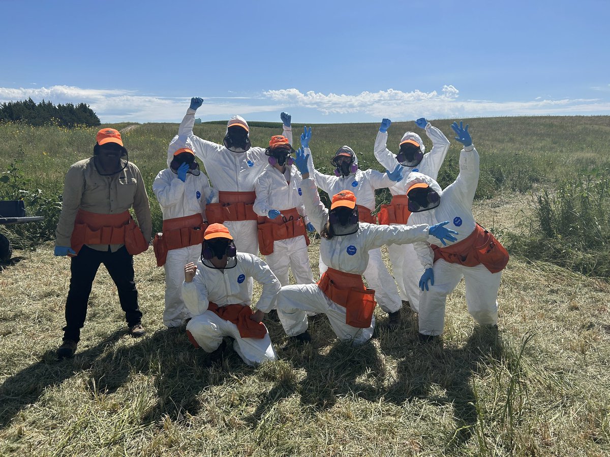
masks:
[[[70,246],[79,253],[85,244],[124,244],[131,255],[148,249],[148,242],[129,211],[102,214],[78,210]]]

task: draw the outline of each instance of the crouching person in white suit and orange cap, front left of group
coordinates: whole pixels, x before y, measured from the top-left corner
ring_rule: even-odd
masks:
[[[223,224],[209,225],[203,238],[201,260],[184,266],[182,299],[193,314],[187,324],[188,339],[217,356],[223,349],[223,337],[229,336],[246,364],[277,360],[261,321],[279,291],[278,278],[255,255],[236,252],[233,237]],[[254,313],[248,278],[263,286]]]

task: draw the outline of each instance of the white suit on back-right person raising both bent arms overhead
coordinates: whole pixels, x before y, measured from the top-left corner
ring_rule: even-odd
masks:
[[[426,135],[432,140],[432,149],[428,154],[424,154],[422,161],[414,167],[403,167],[403,179],[391,186],[390,193],[392,195],[404,195],[407,193],[404,183],[409,179],[409,173],[412,171],[418,171],[425,175],[428,175],[432,179],[436,180],[439,175],[440,166],[445,160],[447,151],[449,151],[449,140],[447,136],[443,135],[436,127],[432,127],[430,122],[426,124]],[[400,140],[402,143],[404,140],[415,140],[417,143],[422,145],[422,152],[425,151],[423,146],[422,138],[417,133],[406,132],[403,138]],[[398,161],[396,160],[396,154],[392,154],[387,149],[387,132],[377,132],[377,138],[375,139],[375,158],[381,163],[382,166],[387,169],[393,169]],[[400,292],[400,298],[408,300],[412,310],[417,312],[419,307],[419,292],[418,283],[423,274],[423,269],[417,258],[417,253],[412,244],[403,244],[401,246],[389,246],[388,252],[390,253],[390,262],[392,263],[392,271],[394,278],[398,284],[398,291]]]

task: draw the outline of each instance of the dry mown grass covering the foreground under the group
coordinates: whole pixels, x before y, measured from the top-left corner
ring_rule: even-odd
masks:
[[[483,224],[511,227],[487,201]],[[310,258],[317,261],[317,244]],[[73,360],[57,362],[68,261],[51,244],[0,272],[1,455],[608,455],[608,283],[513,258],[500,333],[476,327],[463,283],[442,345],[418,344],[415,316],[352,348],[329,325],[312,345],[253,369],[231,353],[205,367],[184,331],[162,326],[163,270],[136,258],[148,335],[126,334],[100,269]],[[281,326],[268,324],[279,347]]]

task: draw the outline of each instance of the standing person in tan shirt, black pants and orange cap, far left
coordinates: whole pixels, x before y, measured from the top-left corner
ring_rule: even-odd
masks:
[[[131,218],[131,207],[140,227]],[[148,249],[151,231],[148,195],[140,170],[129,161],[117,130],[99,130],[93,157],[70,167],[63,188],[55,255],[71,257],[71,278],[59,358],[76,351],[93,279],[102,263],[117,285],[131,335],[146,333],[138,308],[134,255]]]

